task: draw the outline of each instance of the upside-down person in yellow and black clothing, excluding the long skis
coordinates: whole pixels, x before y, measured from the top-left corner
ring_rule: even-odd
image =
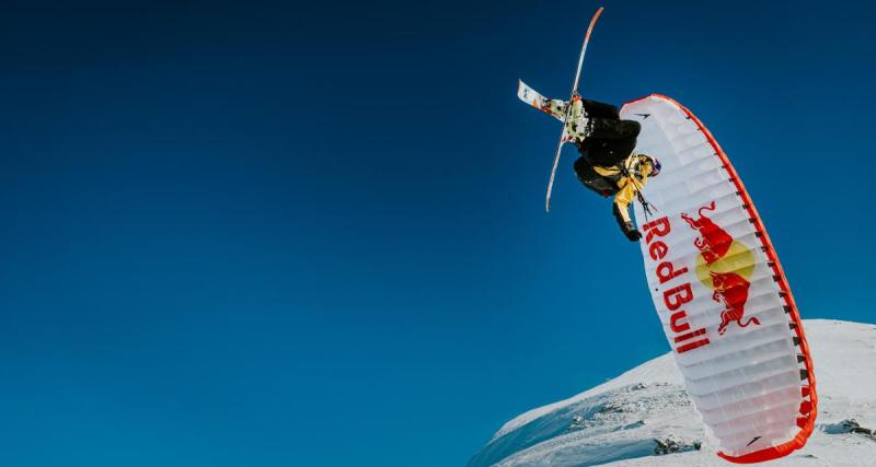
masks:
[[[541,109],[553,116],[566,115],[568,103],[544,100]],[[641,198],[648,177],[660,173],[657,159],[634,152],[638,121],[622,120],[618,107],[597,101],[572,97],[566,132],[581,154],[575,161],[575,173],[584,186],[602,195],[614,195],[614,218],[621,231],[632,242],[642,233],[630,218],[630,203]]]

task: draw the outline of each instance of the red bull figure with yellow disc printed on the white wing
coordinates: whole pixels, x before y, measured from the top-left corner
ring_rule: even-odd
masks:
[[[745,317],[749,279],[754,272],[754,255],[741,242],[710,219],[705,211],[715,211],[715,201],[700,208],[698,218],[681,214],[681,219],[700,232],[693,245],[700,250],[696,261],[696,277],[703,285],[712,289],[712,300],[724,305],[721,312],[718,335],[724,335],[727,327],[735,323],[739,327],[760,325],[756,317]]]

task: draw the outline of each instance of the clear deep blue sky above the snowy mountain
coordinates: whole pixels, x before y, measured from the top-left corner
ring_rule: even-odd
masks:
[[[462,465],[667,351],[515,96],[599,5],[8,2],[0,464]],[[606,7],[583,93],[691,108],[804,317],[873,322],[872,7]]]

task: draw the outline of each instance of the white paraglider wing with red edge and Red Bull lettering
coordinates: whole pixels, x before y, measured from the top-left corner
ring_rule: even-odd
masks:
[[[624,105],[636,152],[660,175],[636,205],[645,273],[664,330],[718,455],[756,463],[803,447],[815,374],[797,306],[760,215],[729,159],[676,101]]]

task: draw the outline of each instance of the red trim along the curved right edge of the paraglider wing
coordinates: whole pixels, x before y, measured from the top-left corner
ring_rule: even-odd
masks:
[[[802,397],[804,400],[800,404],[800,416],[797,419],[797,425],[800,428],[800,431],[797,433],[796,436],[794,436],[793,440],[780,444],[777,446],[772,446],[765,450],[756,451],[753,453],[749,453],[742,456],[734,457],[722,452],[718,452],[717,454],[724,459],[739,464],[762,463],[765,460],[771,460],[786,456],[791,454],[793,451],[803,447],[806,444],[806,440],[811,434],[812,429],[815,428],[815,419],[818,412],[818,395],[816,394],[815,390],[816,381],[815,381],[815,372],[812,371],[812,359],[809,353],[809,343],[806,341],[806,334],[803,331],[803,323],[800,320],[799,312],[797,311],[797,304],[796,302],[794,302],[794,295],[791,293],[791,287],[788,285],[787,279],[785,278],[785,272],[782,270],[782,264],[779,261],[779,256],[775,254],[775,248],[773,248],[773,244],[770,241],[770,236],[766,234],[766,229],[764,229],[763,226],[763,221],[761,221],[760,214],[758,214],[758,210],[757,208],[754,208],[754,203],[751,202],[751,197],[749,196],[748,190],[746,190],[745,185],[742,185],[741,178],[739,178],[739,175],[736,173],[736,170],[733,167],[733,164],[730,164],[730,160],[727,157],[727,154],[721,148],[721,144],[718,144],[718,142],[715,140],[715,137],[712,136],[712,132],[710,132],[708,129],[705,127],[705,125],[703,125],[703,122],[700,121],[700,119],[696,118],[696,116],[693,115],[693,113],[691,113],[687,107],[679,104],[678,101],[665,96],[662,94],[652,94],[645,97],[630,101],[626,104],[624,104],[624,106],[646,100],[648,97],[661,98],[681,109],[681,112],[683,112],[688,116],[688,118],[690,118],[694,124],[696,124],[700,131],[702,131],[706,140],[708,140],[708,143],[712,145],[712,149],[715,150],[715,154],[724,163],[724,168],[729,174],[730,182],[733,182],[734,186],[736,187],[736,190],[739,192],[739,197],[742,198],[744,206],[748,211],[749,215],[751,217],[751,219],[754,220],[754,229],[760,234],[759,237],[761,244],[765,247],[766,259],[773,264],[772,266],[773,272],[774,276],[777,278],[776,283],[779,283],[780,290],[784,293],[783,299],[785,301],[785,305],[791,310],[791,312],[788,313],[788,315],[791,316],[791,324],[794,325],[793,326],[794,331],[797,338],[799,338],[798,347],[803,352],[804,357],[803,363],[807,371],[807,381],[809,383],[809,386],[803,387]],[[809,398],[809,400],[806,400],[807,397]]]

